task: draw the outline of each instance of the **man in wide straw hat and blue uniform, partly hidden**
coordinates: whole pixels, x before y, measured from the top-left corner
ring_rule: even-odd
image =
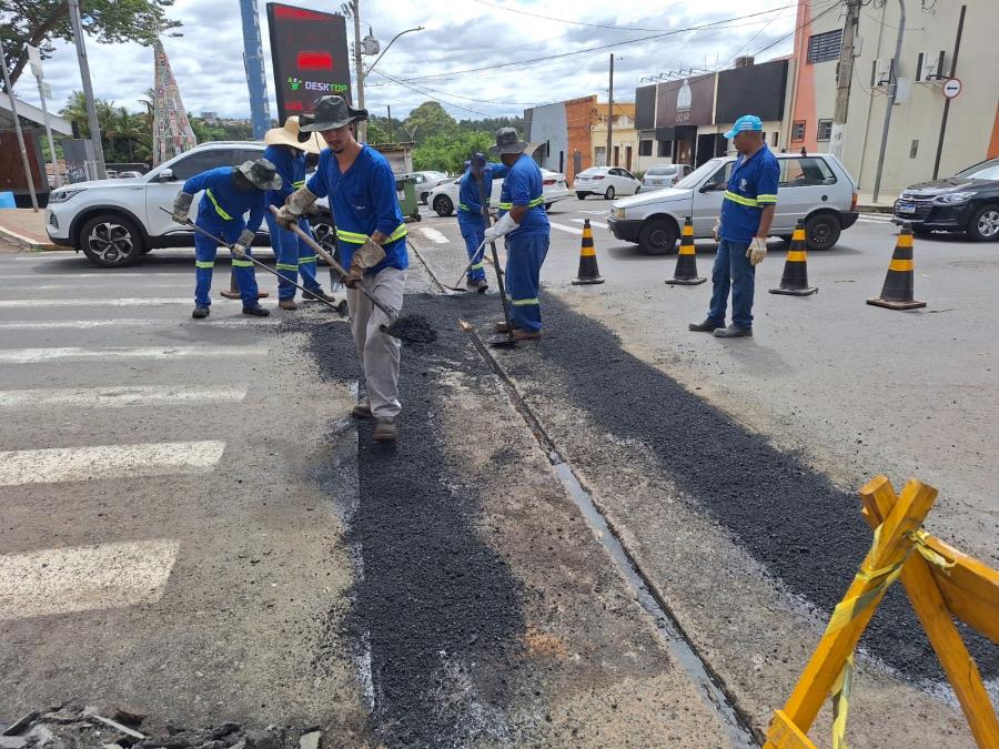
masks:
[[[283,128],[272,128],[264,134],[264,159],[272,162],[281,175],[281,189],[268,191],[268,205],[281,208],[284,201],[295,190],[305,184],[305,154],[317,154],[322,151],[319,136],[313,133],[304,143],[299,142],[299,118],[290,117]],[[310,247],[294,232],[282,229],[274,214],[268,210],[264,213],[268,222],[268,231],[271,234],[271,247],[278,265],[278,306],[282,310],[296,310],[295,283],[302,277],[302,286],[305,292],[303,300],[325,300],[335,303],[335,300],[323,292],[323,287],[315,277],[315,250]],[[299,227],[312,236],[309,221],[303,216],[299,221]]]

